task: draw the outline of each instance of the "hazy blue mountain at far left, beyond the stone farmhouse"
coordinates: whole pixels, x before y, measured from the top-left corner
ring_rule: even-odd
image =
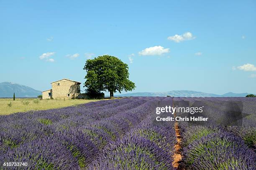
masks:
[[[0,83],[0,97],[13,97],[14,92],[15,97],[37,97],[42,94],[41,91],[26,85],[20,85],[13,82]]]

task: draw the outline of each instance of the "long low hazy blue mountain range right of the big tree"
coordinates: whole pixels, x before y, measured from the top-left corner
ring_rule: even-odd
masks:
[[[172,97],[246,97],[249,93],[233,93],[228,92],[224,95],[216,95],[211,93],[205,93],[205,92],[197,92],[197,91],[191,91],[191,90],[172,90],[169,92],[134,92],[134,93],[127,93],[127,94],[121,94],[121,95],[114,95],[115,97],[121,97],[121,96],[172,96]]]

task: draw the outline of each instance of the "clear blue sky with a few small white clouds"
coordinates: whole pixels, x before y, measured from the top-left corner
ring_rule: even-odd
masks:
[[[87,58],[108,54],[133,92],[256,94],[255,18],[254,0],[0,1],[0,82],[84,82]]]

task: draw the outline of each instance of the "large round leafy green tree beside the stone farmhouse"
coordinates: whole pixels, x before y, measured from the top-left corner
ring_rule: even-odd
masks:
[[[87,75],[84,87],[87,92],[109,91],[110,98],[114,92],[135,89],[135,84],[129,78],[128,65],[117,57],[103,55],[92,60],[87,60],[84,65]]]

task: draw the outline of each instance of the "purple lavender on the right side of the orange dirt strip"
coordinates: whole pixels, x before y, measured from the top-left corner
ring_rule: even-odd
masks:
[[[181,164],[185,169],[256,169],[256,100],[177,97],[174,104],[188,104],[190,107],[204,105],[205,111],[198,115],[209,117],[209,122],[202,125],[179,122],[183,156]],[[184,113],[177,113],[177,116],[182,115]]]

